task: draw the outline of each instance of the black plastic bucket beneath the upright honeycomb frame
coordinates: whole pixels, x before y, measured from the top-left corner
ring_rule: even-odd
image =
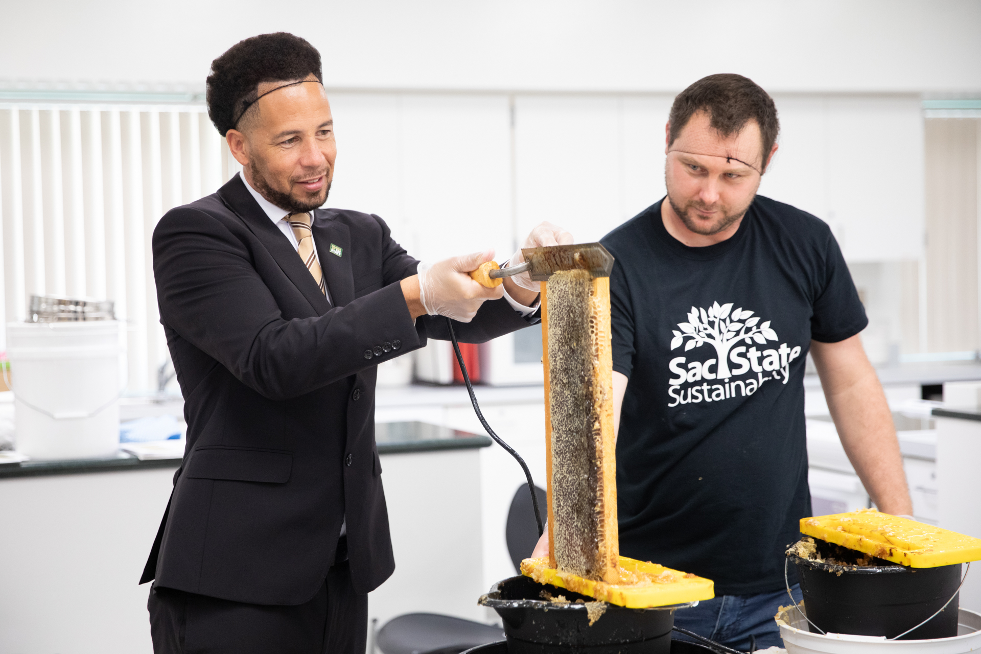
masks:
[[[543,598],[564,596],[568,604]],[[670,654],[674,612],[690,606],[627,609],[607,604],[591,626],[585,604],[594,598],[527,577],[498,581],[480,599],[500,616],[508,654]]]

